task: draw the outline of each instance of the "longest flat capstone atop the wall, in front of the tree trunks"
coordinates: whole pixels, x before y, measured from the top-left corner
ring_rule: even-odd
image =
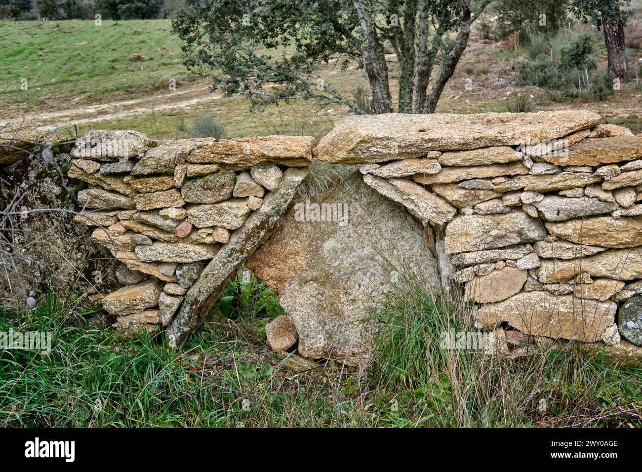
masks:
[[[430,151],[517,146],[593,128],[600,116],[586,111],[482,114],[380,114],[343,119],[318,144],[318,159],[361,164],[421,157]]]

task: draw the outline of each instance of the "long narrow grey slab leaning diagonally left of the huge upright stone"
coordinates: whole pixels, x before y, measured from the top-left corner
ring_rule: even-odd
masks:
[[[274,224],[288,210],[299,184],[308,175],[307,168],[290,168],[281,184],[263,199],[263,205],[250,215],[241,228],[232,233],[229,242],[205,267],[187,292],[183,306],[168,328],[168,344],[178,347],[198,326],[201,317],[218,299],[223,288],[236,275],[241,264],[265,242]]]

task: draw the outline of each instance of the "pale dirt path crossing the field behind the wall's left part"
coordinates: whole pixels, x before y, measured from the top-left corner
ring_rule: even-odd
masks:
[[[220,98],[220,95],[209,91],[207,83],[196,83],[181,85],[175,91],[159,92],[144,98],[13,116],[8,118],[8,121],[19,123],[24,119],[26,124],[53,130],[56,127],[87,125],[99,121],[132,118],[147,113],[183,114],[186,110],[193,109],[197,105]]]

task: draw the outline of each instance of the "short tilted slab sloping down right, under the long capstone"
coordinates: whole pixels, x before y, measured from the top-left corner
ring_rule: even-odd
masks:
[[[369,174],[363,175],[363,182],[374,188],[381,195],[404,205],[411,214],[422,222],[439,225],[449,222],[457,213],[453,205],[435,193],[408,179],[381,179]]]

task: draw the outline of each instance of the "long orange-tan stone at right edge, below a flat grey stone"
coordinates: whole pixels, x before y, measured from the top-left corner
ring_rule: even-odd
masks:
[[[622,248],[642,245],[642,216],[612,218],[596,216],[583,220],[545,223],[546,229],[573,243]]]

